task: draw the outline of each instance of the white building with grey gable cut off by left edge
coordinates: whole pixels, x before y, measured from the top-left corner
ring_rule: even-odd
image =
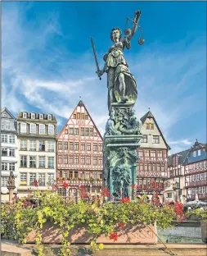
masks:
[[[1,111],[1,198],[2,202],[9,199],[7,180],[10,176],[10,171],[13,171],[15,176],[17,192],[17,132],[16,118],[13,117],[7,107],[3,107]]]

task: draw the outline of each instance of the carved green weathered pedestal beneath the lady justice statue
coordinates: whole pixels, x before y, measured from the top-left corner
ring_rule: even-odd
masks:
[[[113,103],[104,135],[105,185],[110,200],[133,199],[133,185],[137,185],[137,148],[142,135],[141,122],[133,106]]]

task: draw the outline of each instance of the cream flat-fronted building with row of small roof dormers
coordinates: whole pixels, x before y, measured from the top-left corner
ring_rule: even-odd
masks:
[[[56,118],[52,114],[20,112],[17,132],[18,195],[25,196],[29,189],[52,190],[56,180]]]

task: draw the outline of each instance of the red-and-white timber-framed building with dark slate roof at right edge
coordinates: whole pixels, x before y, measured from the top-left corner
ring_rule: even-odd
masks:
[[[184,161],[187,201],[198,199],[207,202],[207,153],[206,144],[196,140]]]

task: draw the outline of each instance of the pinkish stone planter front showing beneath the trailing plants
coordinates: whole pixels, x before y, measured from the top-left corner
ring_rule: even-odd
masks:
[[[151,231],[152,230],[152,231]],[[97,239],[97,244],[155,244],[156,226],[142,226],[128,224],[121,231],[117,231],[118,240],[110,240],[105,235],[100,235]],[[27,243],[35,243],[36,232],[31,231],[27,236]],[[61,232],[57,226],[47,222],[43,224],[42,231],[43,244],[61,244]],[[88,245],[93,240],[93,236],[88,234],[84,226],[75,227],[70,231],[67,240],[71,244],[85,244]]]

